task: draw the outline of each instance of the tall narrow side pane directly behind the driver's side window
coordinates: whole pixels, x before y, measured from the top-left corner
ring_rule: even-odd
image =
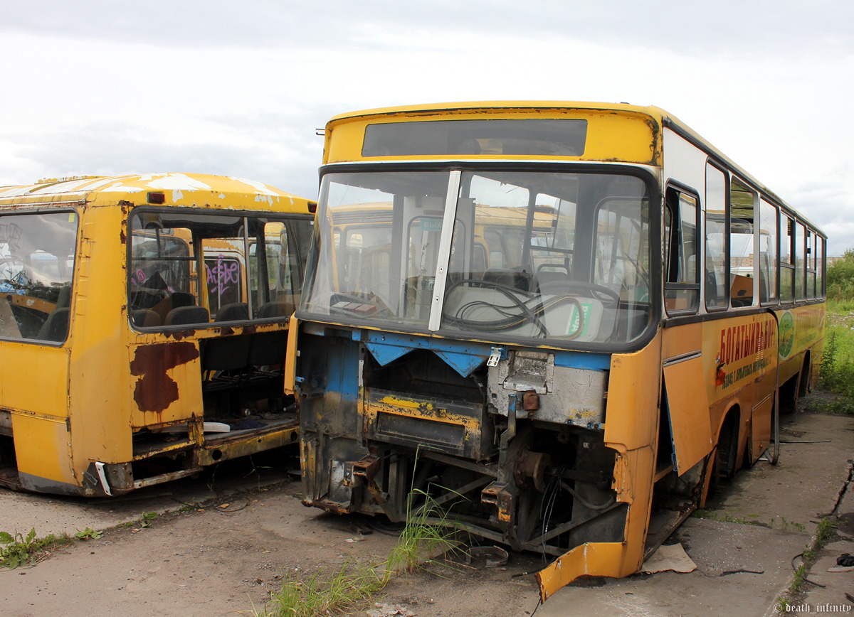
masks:
[[[727,281],[727,181],[717,167],[705,174],[705,306],[729,306]]]

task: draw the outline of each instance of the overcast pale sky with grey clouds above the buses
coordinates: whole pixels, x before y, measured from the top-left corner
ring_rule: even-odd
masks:
[[[851,0],[0,0],[0,184],[317,192],[315,129],[447,101],[658,105],[854,247]]]

